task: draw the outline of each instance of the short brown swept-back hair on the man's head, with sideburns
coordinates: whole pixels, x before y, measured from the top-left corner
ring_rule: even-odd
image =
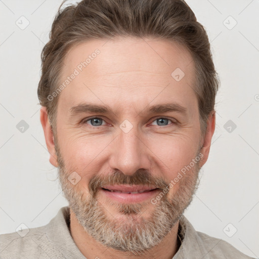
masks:
[[[154,37],[186,47],[195,62],[195,94],[199,104],[201,134],[214,111],[220,79],[215,72],[204,27],[183,0],[83,0],[61,10],[52,24],[50,40],[41,53],[38,99],[45,106],[56,132],[58,88],[63,60],[68,50],[83,41],[117,36]]]

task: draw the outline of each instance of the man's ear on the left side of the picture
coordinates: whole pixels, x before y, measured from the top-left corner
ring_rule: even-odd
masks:
[[[54,135],[48,118],[48,112],[46,107],[40,108],[40,122],[44,130],[45,141],[47,144],[48,151],[50,153],[50,162],[55,167],[58,167],[57,155],[54,144]]]

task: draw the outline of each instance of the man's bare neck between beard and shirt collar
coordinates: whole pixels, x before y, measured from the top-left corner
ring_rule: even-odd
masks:
[[[78,223],[75,214],[70,209],[70,232],[72,238],[80,252],[88,259],[148,259],[150,257],[171,259],[177,253],[181,245],[177,235],[178,227],[179,221],[158,245],[144,252],[134,254],[132,252],[123,252],[113,248],[107,248],[97,242],[92,236],[84,231],[83,227]]]

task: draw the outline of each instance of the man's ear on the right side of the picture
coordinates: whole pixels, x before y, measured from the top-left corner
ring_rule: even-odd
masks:
[[[208,159],[209,149],[210,149],[210,145],[211,145],[211,139],[212,139],[212,136],[215,131],[215,122],[216,122],[215,114],[216,114],[216,112],[212,111],[209,114],[208,119],[207,119],[207,129],[206,129],[205,136],[203,138],[203,145],[202,145],[202,149],[201,149],[201,153],[203,154],[203,157],[199,163],[200,167],[202,167]]]

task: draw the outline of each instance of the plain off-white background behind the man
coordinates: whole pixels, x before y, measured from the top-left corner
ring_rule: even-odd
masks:
[[[185,215],[197,231],[258,258],[259,1],[187,3],[207,30],[221,88],[210,156]],[[46,225],[68,205],[57,169],[49,163],[37,99],[40,52],[60,4],[0,1],[0,234],[14,232],[21,223]],[[24,30],[16,25],[21,16],[29,21]],[[232,29],[235,21],[229,16],[237,22]],[[29,125],[24,133],[16,128],[21,120]],[[231,133],[224,128],[228,120],[236,124]],[[229,223],[237,229],[232,237],[223,231]]]

